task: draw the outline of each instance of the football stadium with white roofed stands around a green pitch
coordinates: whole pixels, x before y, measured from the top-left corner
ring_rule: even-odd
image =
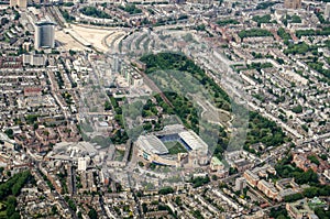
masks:
[[[193,130],[186,130],[179,124],[141,135],[136,146],[139,156],[157,165],[197,167],[208,163],[208,145]]]

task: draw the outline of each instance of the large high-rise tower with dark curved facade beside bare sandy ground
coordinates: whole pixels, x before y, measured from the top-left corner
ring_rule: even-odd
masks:
[[[40,21],[35,23],[34,48],[55,47],[55,23],[50,21]]]

